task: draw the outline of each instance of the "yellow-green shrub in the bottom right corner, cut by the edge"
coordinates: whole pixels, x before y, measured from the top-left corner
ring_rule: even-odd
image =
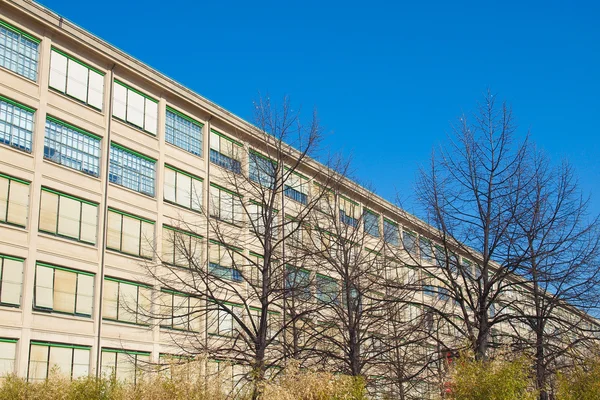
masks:
[[[558,374],[558,400],[600,400],[600,359]]]

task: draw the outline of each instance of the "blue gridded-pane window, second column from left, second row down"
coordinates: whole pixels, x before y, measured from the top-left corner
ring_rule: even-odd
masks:
[[[46,117],[44,158],[95,177],[100,176],[100,136]]]

